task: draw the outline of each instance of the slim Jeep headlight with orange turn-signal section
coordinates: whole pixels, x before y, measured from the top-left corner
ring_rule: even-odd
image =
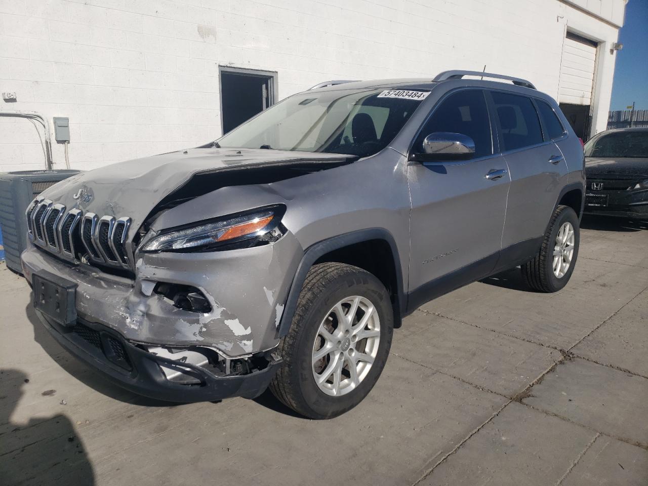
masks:
[[[152,238],[142,251],[212,251],[226,246],[255,246],[283,235],[284,208],[270,207],[191,227],[178,227]]]

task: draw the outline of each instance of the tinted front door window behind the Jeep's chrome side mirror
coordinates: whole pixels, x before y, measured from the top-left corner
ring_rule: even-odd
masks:
[[[475,143],[475,157],[492,154],[491,123],[483,91],[457,91],[435,108],[414,143],[414,152],[422,152],[423,139],[435,132],[468,135]]]

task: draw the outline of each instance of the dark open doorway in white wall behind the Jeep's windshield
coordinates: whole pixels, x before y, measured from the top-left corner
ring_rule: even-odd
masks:
[[[249,69],[220,69],[223,134],[272,105],[276,74]]]

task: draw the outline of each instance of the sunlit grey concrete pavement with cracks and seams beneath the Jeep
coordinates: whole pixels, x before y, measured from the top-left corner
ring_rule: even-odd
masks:
[[[519,272],[396,330],[360,406],[331,421],[257,400],[168,406],[112,386],[41,327],[0,267],[0,483],[646,485],[648,226],[584,220],[572,281]]]

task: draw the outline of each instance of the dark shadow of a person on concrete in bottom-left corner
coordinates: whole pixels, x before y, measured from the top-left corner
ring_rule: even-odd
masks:
[[[29,378],[18,369],[0,369],[0,424],[3,485],[94,485],[95,472],[71,420],[62,414],[12,421]]]

